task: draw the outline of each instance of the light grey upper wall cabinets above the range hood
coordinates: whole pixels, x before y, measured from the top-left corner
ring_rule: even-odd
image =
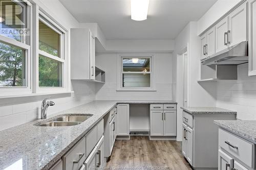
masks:
[[[201,59],[242,41],[247,41],[247,2],[234,9],[201,36]]]

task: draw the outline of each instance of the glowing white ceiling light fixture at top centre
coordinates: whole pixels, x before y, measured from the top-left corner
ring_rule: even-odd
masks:
[[[131,18],[133,20],[145,20],[147,18],[150,0],[131,0]]]

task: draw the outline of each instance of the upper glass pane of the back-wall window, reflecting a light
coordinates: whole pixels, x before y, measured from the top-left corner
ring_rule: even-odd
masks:
[[[150,58],[123,58],[123,71],[150,71]]]

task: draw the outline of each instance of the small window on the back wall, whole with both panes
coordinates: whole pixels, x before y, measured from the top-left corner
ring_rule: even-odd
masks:
[[[118,90],[153,90],[152,56],[121,56]]]

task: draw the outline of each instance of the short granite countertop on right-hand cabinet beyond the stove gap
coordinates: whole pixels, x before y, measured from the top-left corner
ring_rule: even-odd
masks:
[[[180,107],[190,114],[237,114],[235,111],[218,107]]]

